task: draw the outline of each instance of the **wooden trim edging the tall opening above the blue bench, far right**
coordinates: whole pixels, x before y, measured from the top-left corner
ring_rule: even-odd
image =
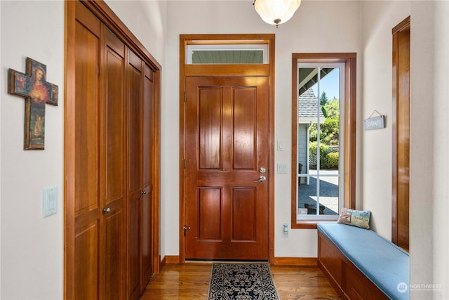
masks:
[[[392,168],[391,168],[391,242],[398,244],[398,96],[399,96],[399,74],[398,74],[398,33],[410,30],[410,15],[402,20],[391,30],[392,34]],[[410,99],[409,99],[410,101]],[[410,122],[410,120],[409,120]]]

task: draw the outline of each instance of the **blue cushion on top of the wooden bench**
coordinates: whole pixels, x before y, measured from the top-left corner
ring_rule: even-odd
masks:
[[[390,299],[409,299],[410,256],[373,230],[340,223],[318,223],[317,229]],[[404,287],[406,284],[406,292]]]

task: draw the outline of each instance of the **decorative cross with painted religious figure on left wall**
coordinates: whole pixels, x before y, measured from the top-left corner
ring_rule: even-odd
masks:
[[[46,81],[47,66],[27,58],[27,74],[8,70],[8,93],[25,98],[25,150],[43,150],[45,105],[58,105],[58,86]]]

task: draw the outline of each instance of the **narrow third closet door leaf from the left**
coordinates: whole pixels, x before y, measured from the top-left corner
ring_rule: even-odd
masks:
[[[128,298],[138,299],[142,210],[142,60],[128,50]]]

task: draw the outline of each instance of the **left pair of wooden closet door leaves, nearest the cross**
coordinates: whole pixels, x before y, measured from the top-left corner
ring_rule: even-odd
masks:
[[[75,299],[123,299],[124,44],[79,2],[76,20]]]

